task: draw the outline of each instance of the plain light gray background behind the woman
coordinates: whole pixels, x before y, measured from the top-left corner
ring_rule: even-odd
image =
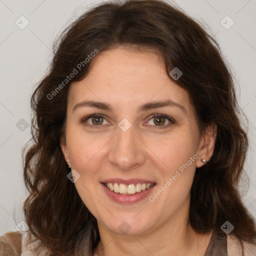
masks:
[[[102,1],[0,0],[0,235],[16,231],[16,224],[24,219],[21,208],[27,191],[21,149],[30,138],[30,96],[51,60],[52,42],[87,7],[99,2]],[[256,217],[256,0],[169,2],[180,6],[215,36],[235,74],[237,97],[249,120],[250,137],[245,164],[248,176],[244,176],[240,191]],[[27,21],[21,15],[29,22],[24,29],[19,26]],[[227,15],[234,21],[230,28],[232,20],[224,18]]]

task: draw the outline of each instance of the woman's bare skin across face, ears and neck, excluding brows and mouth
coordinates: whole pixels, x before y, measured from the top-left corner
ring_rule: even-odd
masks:
[[[168,99],[184,110],[164,106],[137,111],[141,104]],[[88,106],[72,110],[84,100],[108,103],[112,111]],[[104,115],[102,124],[92,123],[92,118],[81,122],[92,113]],[[157,125],[159,116],[152,117],[157,113],[175,122],[163,118]],[[126,131],[118,127],[123,118],[131,124]],[[189,192],[195,168],[204,164],[201,158],[212,155],[215,131],[210,126],[199,134],[187,92],[166,74],[155,52],[117,47],[94,57],[88,75],[70,86],[61,142],[66,162],[80,175],[74,183],[77,192],[97,219],[100,241],[94,253],[203,255],[211,233],[201,234],[190,226]],[[153,195],[197,151],[200,156],[154,202],[145,197],[132,204],[117,203],[99,183],[114,177],[154,180]],[[125,234],[118,228],[123,221],[130,226]]]

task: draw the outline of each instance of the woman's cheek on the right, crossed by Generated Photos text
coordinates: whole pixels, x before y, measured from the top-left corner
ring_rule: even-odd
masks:
[[[189,130],[180,129],[158,140],[157,144],[154,141],[154,147],[153,141],[149,143],[149,147],[154,148],[155,165],[161,173],[156,193],[150,201],[156,200],[159,208],[171,205],[169,210],[175,211],[186,200],[198,158],[196,139]]]

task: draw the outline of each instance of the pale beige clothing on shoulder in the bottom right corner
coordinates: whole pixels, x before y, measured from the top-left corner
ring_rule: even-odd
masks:
[[[243,242],[244,256],[256,256],[256,245]],[[227,254],[241,256],[242,248],[239,240],[234,235],[227,235]]]

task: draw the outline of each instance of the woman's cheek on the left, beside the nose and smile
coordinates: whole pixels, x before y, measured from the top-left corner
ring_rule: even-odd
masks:
[[[80,177],[74,183],[83,203],[96,217],[100,212],[100,204],[95,198],[98,195],[98,174],[105,159],[105,148],[109,139],[105,136],[84,135],[72,132],[67,134],[69,158],[72,169],[75,169]],[[96,210],[95,210],[96,209]]]

